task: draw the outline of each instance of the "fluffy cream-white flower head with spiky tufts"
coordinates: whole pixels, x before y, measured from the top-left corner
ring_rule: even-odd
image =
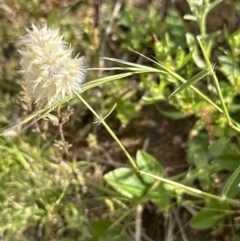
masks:
[[[59,29],[41,28],[32,25],[32,30],[20,37],[23,45],[21,54],[21,73],[29,95],[35,102],[52,105],[80,89],[84,80],[86,65],[84,57],[72,58]]]

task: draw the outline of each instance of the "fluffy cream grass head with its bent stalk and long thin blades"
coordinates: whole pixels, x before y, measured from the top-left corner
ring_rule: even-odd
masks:
[[[160,67],[160,69],[129,63],[123,60],[104,58],[106,60],[115,61],[117,63],[125,65],[125,67],[123,68],[114,69],[121,69],[128,72],[103,77],[97,80],[92,80],[88,83],[83,83],[84,74],[86,70],[88,70],[86,64],[84,63],[84,58],[72,58],[72,50],[70,50],[67,47],[67,44],[63,41],[63,37],[59,35],[59,30],[48,29],[47,25],[44,25],[42,28],[38,28],[33,25],[32,30],[27,29],[27,31],[28,34],[21,37],[21,43],[24,45],[24,48],[20,50],[20,64],[22,67],[21,73],[25,77],[25,82],[29,95],[32,96],[35,102],[45,103],[46,106],[43,109],[27,117],[25,120],[20,122],[20,124],[25,124],[31,121],[32,119],[35,119],[34,121],[39,120],[44,116],[48,115],[56,107],[68,102],[69,100],[71,100],[71,98],[76,96],[79,100],[81,100],[84,103],[85,106],[87,106],[87,108],[97,118],[98,122],[106,128],[109,134],[118,143],[118,145],[126,155],[127,159],[129,160],[131,166],[137,173],[142,174],[144,176],[148,176],[157,181],[170,184],[171,186],[179,188],[187,193],[192,193],[193,195],[197,195],[203,198],[222,200],[219,196],[210,195],[208,193],[199,191],[195,188],[191,188],[180,183],[168,180],[166,178],[159,177],[155,174],[151,174],[150,172],[145,172],[144,169],[139,170],[136,163],[133,161],[132,157],[129,155],[129,153],[126,151],[122,143],[119,141],[114,132],[105,122],[106,117],[101,117],[99,114],[97,114],[92,109],[92,107],[86,102],[86,100],[83,99],[83,97],[81,96],[81,93],[90,88],[96,87],[109,81],[121,79],[136,73],[164,73],[172,75],[173,77],[177,78],[178,80],[184,83],[187,82],[186,80],[184,80],[181,76],[173,72],[171,69],[168,69],[167,67],[163,66],[161,63],[153,61],[149,58],[147,59],[154,62],[157,66]],[[38,48],[35,49],[34,46],[36,43],[38,44]],[[51,48],[49,46],[46,46],[47,44],[49,44],[49,46],[54,47]],[[41,51],[47,52],[46,55],[43,55],[43,52]],[[64,54],[66,54],[66,56]],[[191,81],[196,82],[208,74],[209,70],[204,70],[200,76],[197,75]],[[185,86],[186,84],[184,85],[184,87]],[[48,90],[48,88],[52,89]],[[210,102],[214,105],[214,103],[212,103],[212,101],[209,100],[209,98],[207,98],[206,96],[203,97],[204,99],[206,99],[207,102]],[[110,110],[110,113],[112,112],[114,107]],[[17,123],[16,125],[18,124],[19,123]],[[16,125],[14,125],[14,127]],[[5,133],[9,130],[11,130],[11,128],[6,129]],[[235,204],[234,200],[227,200],[229,203]]]

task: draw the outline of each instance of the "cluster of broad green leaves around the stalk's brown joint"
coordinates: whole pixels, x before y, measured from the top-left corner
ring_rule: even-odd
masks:
[[[137,152],[136,164],[142,171],[162,176],[163,169],[157,160],[143,151]],[[133,203],[151,201],[164,208],[173,194],[159,181],[137,174],[130,168],[118,168],[105,174],[104,178],[108,184]]]

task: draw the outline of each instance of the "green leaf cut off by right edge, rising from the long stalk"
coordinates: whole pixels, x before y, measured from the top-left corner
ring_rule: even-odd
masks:
[[[226,184],[222,190],[223,197],[234,198],[239,193],[239,183],[240,183],[240,166],[233,172],[233,174],[228,178]]]

